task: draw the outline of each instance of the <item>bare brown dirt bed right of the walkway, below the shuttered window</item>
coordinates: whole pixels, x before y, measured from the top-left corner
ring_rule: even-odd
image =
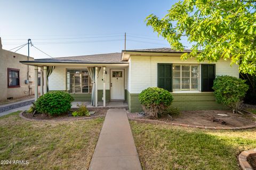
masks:
[[[220,117],[218,114],[226,114],[228,117]],[[132,118],[142,118],[134,116],[131,114],[129,117]],[[255,125],[255,117],[251,114],[234,114],[231,111],[181,111],[180,115],[174,116],[173,120],[169,116],[162,116],[161,118],[149,118],[143,117],[151,120],[158,120],[170,123],[180,123],[195,126],[214,126],[220,128],[234,128],[242,127],[247,125]],[[213,118],[220,120],[219,122],[214,122]],[[226,122],[221,124],[222,121]]]

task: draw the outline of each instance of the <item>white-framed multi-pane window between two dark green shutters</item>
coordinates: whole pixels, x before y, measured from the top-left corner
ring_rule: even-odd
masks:
[[[173,64],[173,91],[198,91],[200,83],[199,64]]]

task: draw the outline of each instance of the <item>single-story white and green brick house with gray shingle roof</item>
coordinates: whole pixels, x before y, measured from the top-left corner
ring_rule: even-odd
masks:
[[[141,111],[140,92],[148,87],[161,87],[172,93],[172,105],[181,110],[222,108],[215,103],[213,80],[216,75],[238,78],[238,65],[230,66],[229,60],[198,63],[191,58],[182,61],[180,56],[185,52],[190,50],[123,50],[122,53],[46,58],[21,63],[35,66],[35,77],[38,67],[42,68],[41,94],[63,90],[73,95],[76,101],[93,100],[94,106],[98,106],[99,101],[106,106],[107,101],[123,100],[129,105],[130,112],[138,112]]]

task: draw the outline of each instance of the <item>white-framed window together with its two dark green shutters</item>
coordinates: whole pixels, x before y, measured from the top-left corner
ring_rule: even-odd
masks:
[[[213,91],[215,64],[157,64],[157,87],[172,91]]]

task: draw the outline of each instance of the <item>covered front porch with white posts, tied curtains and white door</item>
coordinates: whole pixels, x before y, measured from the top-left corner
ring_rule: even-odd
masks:
[[[81,102],[87,107],[128,106],[125,101],[127,63],[96,65],[32,62],[26,64],[35,66],[35,101],[39,97],[38,92],[44,95],[49,91],[60,90],[69,92],[75,98],[74,106]],[[74,72],[71,73],[70,70]],[[41,86],[38,86],[38,73],[41,74]],[[87,75],[86,80],[83,80],[84,75]],[[77,82],[81,83],[80,87],[79,84],[77,86]],[[83,84],[84,82],[88,84]],[[118,97],[118,93],[121,97]]]

